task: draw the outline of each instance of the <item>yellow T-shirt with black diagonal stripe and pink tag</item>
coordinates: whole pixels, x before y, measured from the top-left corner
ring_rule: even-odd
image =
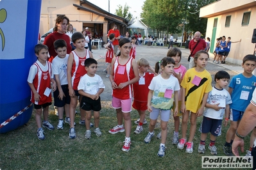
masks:
[[[196,72],[191,68],[185,73],[180,85],[185,89],[186,110],[196,113],[201,107],[203,95],[212,90],[212,77],[207,70]]]

